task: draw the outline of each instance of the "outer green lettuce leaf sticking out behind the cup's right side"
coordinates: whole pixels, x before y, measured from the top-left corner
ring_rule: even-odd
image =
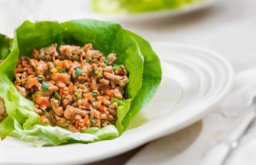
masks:
[[[144,57],[144,69],[143,69],[143,81],[142,86],[138,94],[133,98],[130,110],[124,117],[122,125],[126,129],[135,117],[135,115],[152,99],[157,88],[161,82],[162,70],[159,57],[152,50],[149,42],[134,34],[131,31],[127,31],[137,42],[140,48],[140,52]]]

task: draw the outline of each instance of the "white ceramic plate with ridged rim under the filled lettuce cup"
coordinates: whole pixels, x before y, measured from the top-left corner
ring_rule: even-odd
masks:
[[[33,147],[17,139],[0,143],[0,164],[89,163],[122,154],[201,119],[227,94],[232,65],[220,55],[186,45],[153,43],[162,63],[162,83],[153,100],[114,140],[91,144]],[[141,123],[141,126],[136,125]]]

